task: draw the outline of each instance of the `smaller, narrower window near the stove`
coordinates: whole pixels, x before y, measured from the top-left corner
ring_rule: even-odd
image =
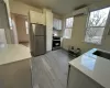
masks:
[[[70,38],[72,37],[72,30],[73,30],[74,18],[67,18],[65,23],[65,32],[64,37]]]

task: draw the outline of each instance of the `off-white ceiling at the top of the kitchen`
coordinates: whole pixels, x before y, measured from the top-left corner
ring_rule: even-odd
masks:
[[[81,4],[90,4],[100,0],[19,0],[26,4],[31,4],[38,8],[50,8],[57,14],[67,14],[72,12],[76,7]]]

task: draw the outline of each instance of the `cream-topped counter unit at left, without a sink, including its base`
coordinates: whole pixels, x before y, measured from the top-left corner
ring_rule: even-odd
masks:
[[[20,44],[0,46],[0,88],[32,88],[30,48]]]

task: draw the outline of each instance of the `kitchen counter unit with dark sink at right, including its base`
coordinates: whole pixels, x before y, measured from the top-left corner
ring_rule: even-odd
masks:
[[[97,51],[101,50],[94,48],[69,62],[67,88],[110,88],[110,59],[105,54],[95,55]]]

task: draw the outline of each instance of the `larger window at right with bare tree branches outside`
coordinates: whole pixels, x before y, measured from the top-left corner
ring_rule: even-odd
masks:
[[[106,9],[90,12],[90,15],[87,22],[85,42],[101,44],[109,11],[110,11],[110,8],[106,8]]]

